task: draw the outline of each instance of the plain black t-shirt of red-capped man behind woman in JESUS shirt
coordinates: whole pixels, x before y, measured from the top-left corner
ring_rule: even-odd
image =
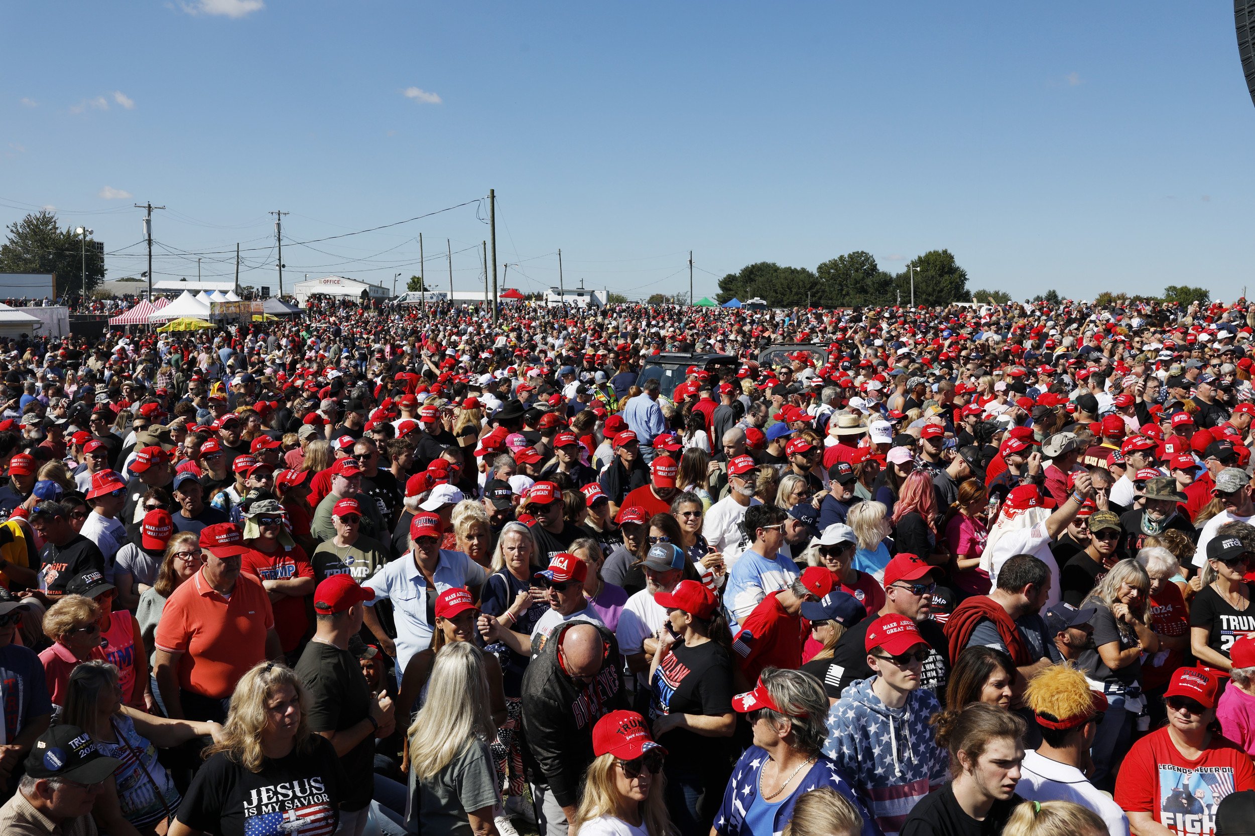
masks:
[[[370,714],[370,688],[361,664],[348,651],[310,642],[296,662],[296,676],[310,694],[306,718],[311,732],[343,732]],[[340,806],[361,810],[374,792],[374,734],[368,734],[340,758],[348,777]]]

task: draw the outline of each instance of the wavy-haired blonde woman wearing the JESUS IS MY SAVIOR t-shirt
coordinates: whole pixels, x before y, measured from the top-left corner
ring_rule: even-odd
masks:
[[[205,750],[207,760],[168,835],[243,833],[247,826],[250,835],[280,836],[323,822],[328,832],[339,826],[348,777],[331,741],[310,731],[309,703],[300,678],[277,662],[261,662],[240,677],[221,738]],[[279,786],[286,796],[281,805],[259,802],[260,793]],[[282,815],[272,823],[259,821],[274,812]]]

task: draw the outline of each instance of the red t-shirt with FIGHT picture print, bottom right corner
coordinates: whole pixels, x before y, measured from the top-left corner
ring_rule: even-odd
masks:
[[[1124,812],[1150,812],[1176,836],[1216,831],[1216,807],[1230,792],[1255,790],[1251,758],[1214,734],[1206,751],[1186,760],[1167,727],[1133,743],[1116,776],[1116,803]]]

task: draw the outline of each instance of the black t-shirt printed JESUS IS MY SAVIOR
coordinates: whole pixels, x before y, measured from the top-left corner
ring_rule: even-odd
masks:
[[[192,778],[176,818],[213,836],[289,836],[304,826],[340,822],[348,776],[335,747],[311,736],[304,755],[266,758],[261,772],[250,772],[225,752],[210,757]],[[321,832],[321,831],[320,831]]]

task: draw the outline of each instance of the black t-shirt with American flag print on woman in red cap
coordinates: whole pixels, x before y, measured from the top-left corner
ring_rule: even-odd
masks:
[[[660,714],[719,717],[732,712],[732,657],[718,642],[688,647],[680,639],[671,645],[649,683],[653,697],[650,718]],[[669,766],[703,770],[717,761],[723,737],[702,737],[674,728],[658,742],[666,747]]]

